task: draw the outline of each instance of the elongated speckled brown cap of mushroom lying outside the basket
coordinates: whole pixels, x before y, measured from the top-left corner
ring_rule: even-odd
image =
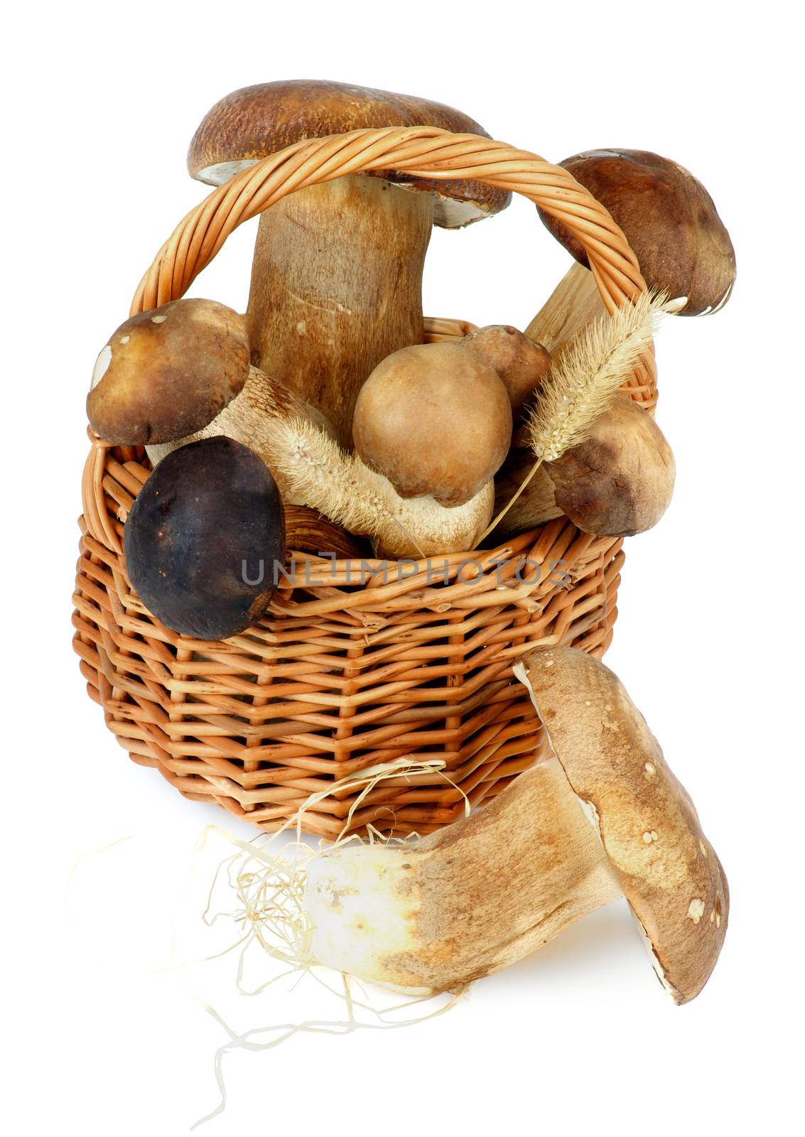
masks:
[[[707,982],[727,933],[729,890],[683,786],[623,684],[599,659],[540,647],[515,666],[646,933],[677,1003]]]

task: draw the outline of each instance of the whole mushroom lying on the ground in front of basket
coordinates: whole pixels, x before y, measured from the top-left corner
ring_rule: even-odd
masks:
[[[719,957],[729,893],[688,794],[603,663],[546,647],[515,672],[553,756],[418,841],[310,861],[316,960],[407,993],[450,990],[624,895],[663,987],[689,1002]]]

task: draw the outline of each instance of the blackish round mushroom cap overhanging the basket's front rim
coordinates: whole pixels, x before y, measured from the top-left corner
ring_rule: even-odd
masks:
[[[167,628],[218,640],[256,623],[285,554],[282,499],[265,463],[230,438],[165,457],[124,528],[126,568]]]

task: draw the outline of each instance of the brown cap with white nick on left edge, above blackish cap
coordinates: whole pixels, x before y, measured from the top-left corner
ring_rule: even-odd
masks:
[[[211,422],[248,375],[242,316],[215,300],[173,300],[111,335],[96,363],[86,415],[108,442],[172,442]]]

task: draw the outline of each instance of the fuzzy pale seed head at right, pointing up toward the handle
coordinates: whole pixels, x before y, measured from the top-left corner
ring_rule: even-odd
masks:
[[[555,360],[529,420],[537,458],[555,462],[584,441],[634,370],[666,301],[665,293],[640,293],[634,304],[589,324]]]

